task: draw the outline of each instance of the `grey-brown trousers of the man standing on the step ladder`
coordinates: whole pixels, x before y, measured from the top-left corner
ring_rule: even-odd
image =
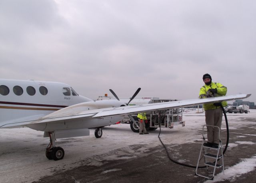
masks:
[[[221,127],[222,122],[222,109],[210,109],[205,111],[205,122],[206,125],[214,125]],[[219,143],[219,129],[211,126],[207,126],[207,139],[210,143]]]

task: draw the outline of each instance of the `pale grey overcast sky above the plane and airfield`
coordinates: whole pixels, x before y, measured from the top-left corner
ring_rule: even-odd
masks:
[[[255,0],[0,0],[0,78],[96,99],[194,99],[203,74],[256,102]]]

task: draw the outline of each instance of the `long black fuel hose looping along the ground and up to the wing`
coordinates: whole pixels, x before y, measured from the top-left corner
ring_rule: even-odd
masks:
[[[222,108],[222,111],[223,111],[223,113],[224,113],[224,117],[225,117],[225,121],[226,121],[226,128],[227,128],[226,146],[225,146],[224,151],[223,151],[223,155],[224,155],[224,153],[226,152],[226,149],[228,148],[228,140],[229,140],[228,118],[227,118],[226,111],[225,111],[224,107],[223,107],[222,105],[221,105],[220,107]],[[160,114],[159,114],[159,116],[160,116]],[[158,117],[158,121],[160,121],[159,117]],[[159,122],[158,122],[158,123],[159,123]],[[168,158],[169,158],[172,162],[174,162],[174,163],[176,163],[176,164],[178,164],[178,165],[182,165],[182,166],[186,166],[186,167],[191,167],[191,168],[196,168],[196,166],[194,166],[194,165],[188,165],[188,164],[185,164],[185,163],[180,163],[180,162],[178,162],[178,161],[172,159],[172,157],[170,156],[170,154],[169,154],[169,152],[168,152],[167,147],[164,145],[164,143],[163,143],[162,140],[160,139],[161,121],[160,121],[159,129],[160,129],[160,131],[159,131],[159,134],[158,134],[158,138],[159,138],[160,142],[162,143],[162,145],[163,145],[163,147],[164,147],[164,149],[165,149],[165,151],[166,151],[166,153],[167,153]],[[198,168],[206,168],[206,166],[199,166]]]

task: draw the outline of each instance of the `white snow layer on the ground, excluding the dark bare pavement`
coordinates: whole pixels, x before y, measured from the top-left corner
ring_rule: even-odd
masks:
[[[179,125],[174,126],[174,129],[162,129],[160,137],[164,144],[176,145],[195,143],[195,140],[202,141],[202,126],[205,124],[204,113],[189,111],[184,112],[183,115],[183,120],[186,121],[185,127]],[[241,126],[250,127],[250,125],[255,124],[256,120],[256,110],[250,110],[248,114],[227,115],[230,129],[239,129]],[[248,120],[248,117],[251,120]],[[245,118],[247,120],[244,120]],[[222,129],[226,129],[224,122]],[[150,131],[149,135],[138,135],[138,133],[131,131],[129,124],[118,124],[104,127],[102,137],[97,139],[94,137],[94,129],[90,129],[90,136],[58,139],[56,144],[65,150],[65,156],[63,160],[53,161],[45,157],[45,149],[49,139],[43,137],[42,131],[29,128],[0,129],[0,182],[31,182],[40,177],[80,165],[97,166],[101,165],[102,160],[136,157],[141,152],[149,151],[150,147],[160,145],[158,133],[159,129]],[[238,144],[256,144],[255,142],[242,141],[243,136],[254,134],[239,133],[234,135],[239,141],[229,144],[229,147],[236,147]],[[143,147],[135,151],[130,145],[143,145]],[[121,148],[120,154],[117,151],[115,155],[100,156]],[[219,173],[214,179],[219,181],[230,179],[232,176],[239,176],[242,173],[252,171],[255,166],[256,156],[242,159],[240,163],[229,167],[225,176]],[[238,168],[243,169],[243,171],[236,173]],[[118,170],[113,169],[112,171]]]

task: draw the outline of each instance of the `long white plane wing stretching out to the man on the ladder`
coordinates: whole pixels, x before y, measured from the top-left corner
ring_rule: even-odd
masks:
[[[232,101],[236,99],[244,99],[249,97],[250,95],[251,94],[237,94],[237,95],[220,96],[220,97],[209,97],[204,99],[189,99],[189,100],[162,102],[162,103],[150,103],[150,104],[144,104],[144,105],[110,107],[110,108],[102,108],[102,109],[85,110],[80,112],[77,112],[74,109],[72,110],[72,106],[70,106],[71,110],[65,111],[65,113],[60,113],[56,111],[56,113],[51,113],[44,117],[40,117],[37,120],[8,123],[0,126],[0,128],[11,128],[11,127],[17,127],[20,125],[24,126],[24,125],[33,124],[33,123],[46,123],[46,122],[54,123],[54,122],[72,120],[72,119],[83,120],[86,118],[102,118],[106,116],[118,116],[118,115],[125,115],[125,114],[131,114],[131,113],[174,109],[174,108],[189,107],[194,105],[201,105],[203,103],[214,103],[214,102],[221,102],[221,101],[230,101],[230,100]]]

